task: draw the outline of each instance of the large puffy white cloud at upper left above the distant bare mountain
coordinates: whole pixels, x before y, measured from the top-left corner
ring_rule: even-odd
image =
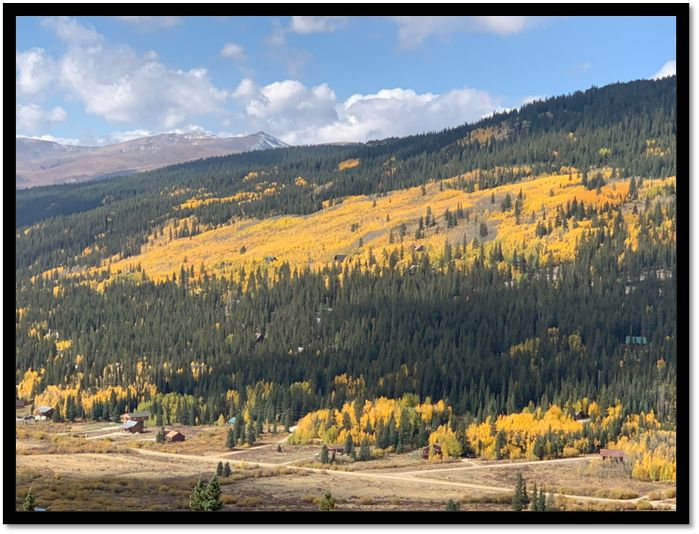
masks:
[[[51,73],[63,96],[82,102],[86,113],[110,123],[162,130],[178,127],[195,116],[226,113],[227,93],[213,85],[205,68],[167,68],[154,52],[137,54],[128,46],[112,45],[94,29],[66,17],[46,19],[42,24],[68,46],[55,61],[46,59],[39,49],[18,53],[17,84],[23,90],[46,87],[50,77],[40,76],[42,71],[32,65],[50,63],[55,67],[46,72]]]

